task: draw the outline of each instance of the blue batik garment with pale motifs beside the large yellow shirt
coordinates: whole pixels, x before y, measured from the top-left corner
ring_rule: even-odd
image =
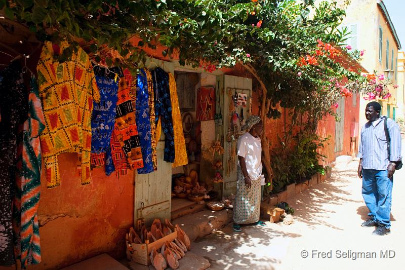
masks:
[[[110,141],[114,130],[118,83],[114,79],[96,75],[100,103],[94,102],[92,117],[92,153],[105,153],[106,174],[115,169],[112,163]]]

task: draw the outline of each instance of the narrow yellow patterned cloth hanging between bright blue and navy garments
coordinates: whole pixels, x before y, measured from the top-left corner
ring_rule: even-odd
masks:
[[[157,157],[156,157],[156,146],[159,138],[156,138],[156,125],[155,125],[155,98],[153,92],[152,74],[149,69],[145,68],[146,79],[148,80],[148,93],[149,93],[149,114],[150,114],[150,139],[152,147],[152,162],[153,170],[157,170]],[[159,137],[160,137],[160,126],[159,126]]]

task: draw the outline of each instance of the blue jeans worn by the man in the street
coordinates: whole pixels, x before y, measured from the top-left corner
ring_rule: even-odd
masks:
[[[370,219],[389,228],[393,178],[388,178],[388,170],[363,169],[362,172],[361,194],[370,210]]]

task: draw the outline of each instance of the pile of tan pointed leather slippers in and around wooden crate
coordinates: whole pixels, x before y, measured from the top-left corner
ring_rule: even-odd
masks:
[[[126,239],[133,244],[150,244],[175,231],[177,232],[177,238],[173,241],[166,241],[163,246],[159,248],[160,250],[155,247],[152,248],[150,261],[157,270],[163,270],[168,266],[177,269],[179,267],[179,260],[183,258],[187,250],[191,248],[190,239],[178,224],[173,226],[168,219],[162,224],[159,219],[155,219],[150,227],[150,231],[148,231],[145,226],[142,226],[140,232],[135,232],[131,227]]]

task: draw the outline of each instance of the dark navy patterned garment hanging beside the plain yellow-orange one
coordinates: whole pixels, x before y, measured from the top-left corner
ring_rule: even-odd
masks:
[[[170,100],[169,74],[160,67],[151,71],[155,97],[155,123],[160,120],[163,133],[165,133],[164,161],[174,162],[175,146],[172,120],[172,101]]]

